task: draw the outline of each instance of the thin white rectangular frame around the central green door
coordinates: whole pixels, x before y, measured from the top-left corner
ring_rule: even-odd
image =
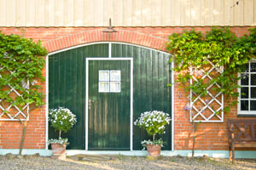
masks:
[[[89,61],[90,60],[130,60],[131,61],[131,109],[130,109],[130,150],[132,150],[132,126],[133,126],[133,58],[86,58],[85,72],[85,150],[88,150],[88,95],[89,95]]]

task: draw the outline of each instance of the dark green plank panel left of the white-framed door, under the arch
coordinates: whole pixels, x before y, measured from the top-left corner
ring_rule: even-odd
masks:
[[[78,117],[77,124],[62,138],[68,138],[67,149],[85,149],[85,59],[108,57],[108,44],[73,48],[49,55],[49,109],[58,106],[69,108]],[[49,127],[49,139],[57,133]]]

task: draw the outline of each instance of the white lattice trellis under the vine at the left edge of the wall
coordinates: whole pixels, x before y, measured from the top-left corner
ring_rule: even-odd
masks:
[[[0,71],[3,70],[5,67],[1,67]],[[9,71],[7,72],[9,74],[14,74],[15,72]],[[0,75],[0,78],[2,76]],[[29,82],[23,82],[22,84],[26,88],[29,88]],[[13,93],[13,97],[15,96],[21,96],[15,88],[12,86],[8,85],[9,88],[9,94]],[[0,121],[26,121],[29,120],[29,105],[26,104],[22,108],[19,108],[17,105],[11,105],[11,104],[6,104],[8,105],[5,107],[3,105],[2,99],[0,99]],[[9,114],[5,113],[4,111],[9,111]]]

